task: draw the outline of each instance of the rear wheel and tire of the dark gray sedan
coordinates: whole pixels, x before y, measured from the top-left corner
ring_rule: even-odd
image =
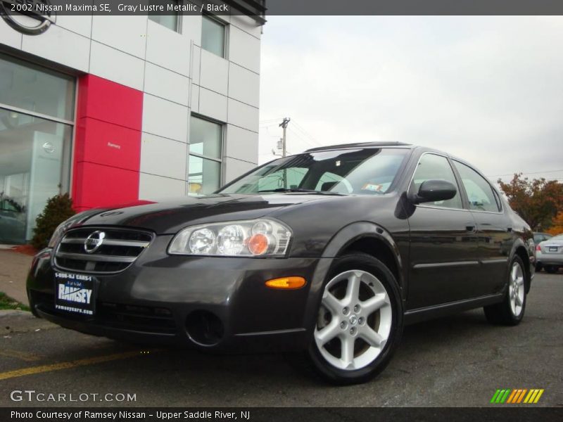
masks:
[[[526,310],[525,281],[524,262],[515,255],[510,262],[505,298],[500,303],[483,308],[487,321],[491,324],[506,326],[520,324]]]

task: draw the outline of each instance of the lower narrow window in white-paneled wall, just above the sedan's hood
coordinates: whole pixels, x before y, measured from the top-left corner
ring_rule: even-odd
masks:
[[[213,193],[221,185],[222,124],[192,116],[189,131],[188,193]]]

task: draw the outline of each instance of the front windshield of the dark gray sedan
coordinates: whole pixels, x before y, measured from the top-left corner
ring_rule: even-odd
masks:
[[[389,191],[407,151],[354,148],[292,155],[258,167],[217,193],[381,195]]]

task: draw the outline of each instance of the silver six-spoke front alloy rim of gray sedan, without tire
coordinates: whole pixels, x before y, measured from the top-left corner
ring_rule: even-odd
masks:
[[[392,315],[387,290],[376,276],[344,271],[324,288],[315,327],[317,348],[337,369],[363,368],[384,350]]]

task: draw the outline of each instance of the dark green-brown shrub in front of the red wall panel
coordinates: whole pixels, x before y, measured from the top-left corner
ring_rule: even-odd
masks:
[[[49,198],[43,212],[37,216],[35,221],[34,234],[31,240],[34,248],[46,248],[57,226],[73,215],[75,215],[75,210],[72,210],[72,199],[70,199],[68,193]]]

